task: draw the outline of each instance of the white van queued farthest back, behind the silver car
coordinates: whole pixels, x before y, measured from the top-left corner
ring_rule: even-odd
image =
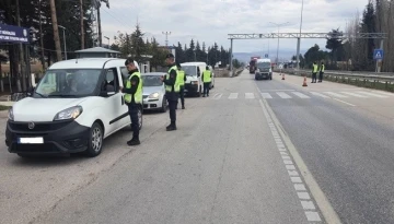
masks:
[[[207,68],[206,62],[185,62],[181,63],[182,70],[185,71],[185,93],[187,95],[200,96],[204,91],[204,83],[201,81],[201,74]],[[212,73],[211,87],[215,84],[215,75]]]

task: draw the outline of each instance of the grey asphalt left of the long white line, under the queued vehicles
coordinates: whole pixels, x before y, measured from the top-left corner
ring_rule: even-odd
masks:
[[[146,115],[141,145],[126,146],[125,130],[95,158],[2,146],[1,222],[324,223],[247,73],[217,79],[177,116],[166,132],[167,114]]]

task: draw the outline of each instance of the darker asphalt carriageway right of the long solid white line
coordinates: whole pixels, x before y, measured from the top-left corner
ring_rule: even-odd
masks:
[[[273,96],[266,101],[341,222],[394,223],[394,95],[274,78],[258,89]]]

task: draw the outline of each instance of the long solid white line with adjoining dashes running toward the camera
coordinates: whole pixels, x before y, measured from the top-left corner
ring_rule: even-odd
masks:
[[[281,127],[278,118],[274,114],[273,109],[268,105],[266,99],[259,99],[264,116],[268,122],[268,126],[271,128],[273,125],[276,127],[271,128],[275,131],[278,131],[281,135],[283,142],[286,143],[287,150],[290,152],[293,161],[297,164],[300,174],[302,175],[305,184],[309,187],[310,192],[312,193],[313,199],[315,200],[317,208],[322,212],[325,221],[327,223],[340,223],[340,220],[333,209],[332,204],[329,203],[328,199],[320,188],[318,184],[312,176],[312,173],[309,170],[308,166],[303,162],[301,155],[299,154],[298,150],[289,139],[289,135],[286,133],[285,129]],[[283,160],[285,161],[285,160]],[[294,165],[286,165],[286,168],[289,170],[297,170]],[[308,192],[304,184],[293,184],[294,189],[297,192]],[[310,222],[321,222],[321,216],[317,211],[304,211],[308,221]]]

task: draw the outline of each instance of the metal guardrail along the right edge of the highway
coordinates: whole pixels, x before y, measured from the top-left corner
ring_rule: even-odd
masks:
[[[274,71],[280,72],[275,69]],[[283,69],[281,72],[300,76],[312,76],[311,70]],[[317,74],[318,75],[318,74]],[[394,73],[392,72],[352,72],[352,71],[325,71],[323,80],[394,92]]]

